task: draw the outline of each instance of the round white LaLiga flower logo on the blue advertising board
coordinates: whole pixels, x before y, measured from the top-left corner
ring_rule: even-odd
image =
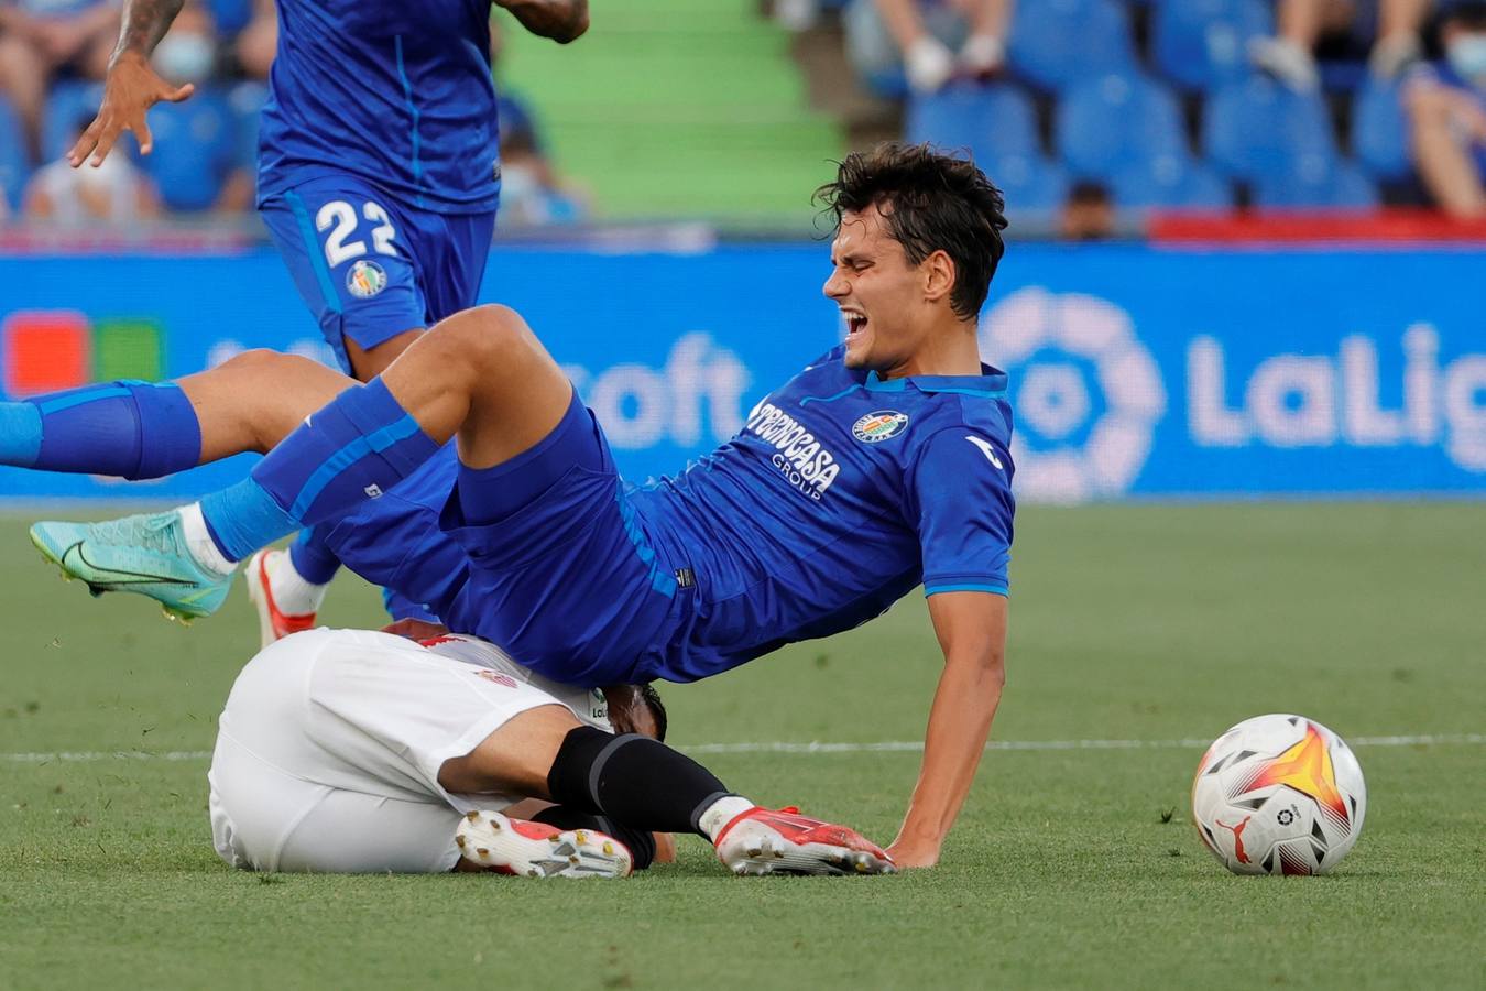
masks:
[[[1018,290],[982,316],[981,354],[1010,376],[1022,498],[1083,502],[1129,489],[1167,412],[1129,313],[1080,293]]]

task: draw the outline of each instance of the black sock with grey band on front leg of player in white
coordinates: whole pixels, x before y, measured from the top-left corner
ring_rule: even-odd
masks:
[[[585,808],[648,832],[701,832],[698,820],[730,792],[707,768],[658,740],[578,727],[557,749],[547,790],[562,805]]]

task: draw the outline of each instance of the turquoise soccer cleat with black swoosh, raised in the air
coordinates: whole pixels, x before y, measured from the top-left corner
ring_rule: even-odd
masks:
[[[192,557],[174,510],[106,523],[37,523],[31,542],[64,578],[88,582],[92,594],[149,596],[181,623],[210,617],[232,590],[232,575],[215,575]]]

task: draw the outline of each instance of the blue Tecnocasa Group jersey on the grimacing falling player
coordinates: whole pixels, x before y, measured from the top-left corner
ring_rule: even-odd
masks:
[[[630,493],[657,553],[694,582],[685,628],[648,675],[716,675],[859,626],[918,584],[1008,593],[1006,376],[881,380],[843,354],[684,474]]]

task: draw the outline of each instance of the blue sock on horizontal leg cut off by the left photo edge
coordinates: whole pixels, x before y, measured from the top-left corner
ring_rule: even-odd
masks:
[[[108,382],[0,403],[0,464],[159,478],[201,461],[201,422],[171,382]]]

